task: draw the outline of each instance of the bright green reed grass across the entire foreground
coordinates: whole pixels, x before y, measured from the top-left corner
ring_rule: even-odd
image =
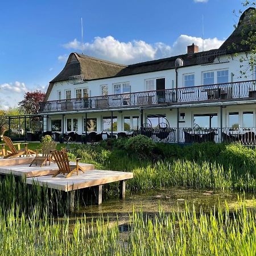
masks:
[[[254,204],[255,206],[255,204]],[[30,218],[16,218],[14,209],[0,209],[1,255],[255,255],[256,217],[253,209],[230,212],[216,208],[206,214],[185,205],[152,217],[130,214],[129,229],[121,233],[118,220],[86,216],[55,220],[37,208]]]

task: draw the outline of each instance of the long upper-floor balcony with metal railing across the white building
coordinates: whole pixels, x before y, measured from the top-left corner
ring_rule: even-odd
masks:
[[[41,102],[39,113],[256,100],[256,80]]]

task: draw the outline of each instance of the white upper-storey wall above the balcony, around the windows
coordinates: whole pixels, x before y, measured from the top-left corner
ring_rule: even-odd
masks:
[[[228,69],[229,70],[229,82],[242,81],[242,80],[253,80],[253,72],[247,71],[246,78],[240,78],[240,57],[245,56],[245,54],[240,54],[234,57],[234,60],[230,56],[222,57],[226,59],[228,63],[210,64],[210,65],[194,65],[191,67],[182,67],[178,69],[178,86],[184,87],[184,75],[193,73],[195,74],[195,85],[203,84],[203,72],[215,71],[214,83],[217,83],[217,70]],[[246,61],[242,63],[247,67]],[[232,74],[234,74],[232,76]],[[166,89],[175,87],[175,69],[169,69],[166,71],[143,73],[138,75],[114,77],[109,79],[100,79],[84,82],[83,84],[71,84],[68,81],[55,82],[52,91],[49,95],[48,101],[59,100],[58,91],[61,92],[61,99],[65,99],[65,90],[71,90],[71,98],[76,98],[76,89],[88,88],[89,96],[100,96],[101,95],[101,85],[108,85],[108,94],[114,94],[113,84],[119,82],[130,82],[131,92],[142,92],[146,90],[145,80],[147,79],[166,79]]]

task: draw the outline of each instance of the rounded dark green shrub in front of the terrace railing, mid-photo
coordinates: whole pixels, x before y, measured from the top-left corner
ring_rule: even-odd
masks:
[[[132,137],[128,139],[125,144],[125,149],[129,152],[129,154],[137,154],[140,158],[149,157],[154,148],[154,141],[145,135]]]

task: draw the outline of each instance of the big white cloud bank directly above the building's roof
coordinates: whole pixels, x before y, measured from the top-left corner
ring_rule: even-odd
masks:
[[[200,51],[203,49],[203,39],[188,35],[180,35],[172,46],[157,42],[148,44],[142,40],[120,42],[113,36],[105,38],[96,37],[92,43],[84,44],[84,53],[101,59],[115,61],[117,63],[131,64],[141,61],[160,59],[186,53],[187,46],[195,43]],[[204,50],[218,48],[223,43],[217,38],[204,40]],[[64,48],[81,51],[81,42],[77,39],[63,45]],[[67,60],[67,55],[59,56],[59,61]]]

